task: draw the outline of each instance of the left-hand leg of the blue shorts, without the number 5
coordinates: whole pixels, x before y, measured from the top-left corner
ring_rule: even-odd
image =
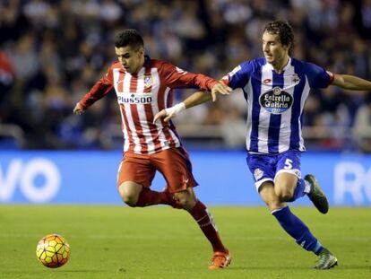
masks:
[[[276,169],[274,156],[248,153],[246,163],[253,174],[255,187],[258,192],[264,182],[271,181],[273,183]]]

